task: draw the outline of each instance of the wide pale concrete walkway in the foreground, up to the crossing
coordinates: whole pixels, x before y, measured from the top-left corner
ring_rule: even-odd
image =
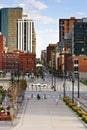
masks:
[[[86,130],[87,127],[62,100],[55,97],[28,101],[24,118],[12,130]],[[5,129],[4,129],[5,130]]]

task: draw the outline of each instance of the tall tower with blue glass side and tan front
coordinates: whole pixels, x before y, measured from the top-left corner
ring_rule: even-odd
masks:
[[[9,52],[17,49],[17,19],[22,18],[22,12],[20,7],[0,9],[0,32],[6,37]]]

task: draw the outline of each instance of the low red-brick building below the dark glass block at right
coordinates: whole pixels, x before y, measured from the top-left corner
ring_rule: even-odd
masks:
[[[75,74],[79,73],[80,79],[87,78],[87,56],[67,56],[66,71]]]

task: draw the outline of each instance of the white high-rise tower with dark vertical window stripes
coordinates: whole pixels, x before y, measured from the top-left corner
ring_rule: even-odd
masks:
[[[17,20],[17,48],[20,51],[36,54],[36,35],[34,30],[34,21],[24,15],[22,19]]]

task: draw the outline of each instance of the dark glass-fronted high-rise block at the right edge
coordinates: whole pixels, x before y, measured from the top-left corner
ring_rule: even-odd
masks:
[[[74,23],[72,34],[72,55],[87,56],[87,18]]]

